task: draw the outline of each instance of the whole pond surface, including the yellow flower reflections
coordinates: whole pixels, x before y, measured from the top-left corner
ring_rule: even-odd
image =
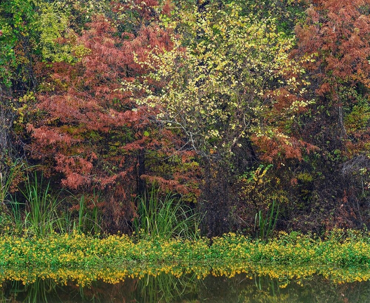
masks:
[[[260,267],[263,269],[263,267]],[[299,273],[301,270],[301,274]],[[370,281],[351,281],[343,275],[361,269],[340,270],[324,277],[297,269],[293,274],[276,268],[225,273],[209,270],[208,274],[188,269],[140,269],[136,274],[123,270],[106,271],[92,279],[86,270],[13,272],[14,279],[3,279],[1,302],[181,302],[181,303],[269,303],[269,302],[370,302]],[[2,270],[4,274],[6,270]],[[63,273],[64,272],[64,276]],[[172,272],[172,273],[171,273]],[[266,273],[266,272],[269,272]],[[114,276],[116,274],[116,276]],[[9,275],[9,272],[8,272]],[[339,279],[343,276],[342,279]],[[355,276],[355,275],[354,275]],[[367,277],[363,275],[363,277]]]

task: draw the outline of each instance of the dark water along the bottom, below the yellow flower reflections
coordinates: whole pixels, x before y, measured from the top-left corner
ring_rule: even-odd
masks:
[[[67,284],[67,285],[65,285]],[[320,275],[304,279],[270,278],[258,274],[233,277],[197,278],[186,273],[180,277],[164,272],[157,276],[126,277],[111,284],[103,280],[77,285],[72,280],[56,282],[36,278],[34,282],[5,280],[1,302],[181,302],[181,303],[366,303],[370,302],[370,282],[335,283]]]

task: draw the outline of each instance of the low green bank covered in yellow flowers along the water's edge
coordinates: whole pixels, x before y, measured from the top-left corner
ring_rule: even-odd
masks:
[[[213,239],[98,238],[78,233],[45,238],[0,236],[2,269],[219,268],[250,265],[361,267],[370,270],[370,237],[335,231],[325,239],[281,233],[268,241],[228,234]]]

